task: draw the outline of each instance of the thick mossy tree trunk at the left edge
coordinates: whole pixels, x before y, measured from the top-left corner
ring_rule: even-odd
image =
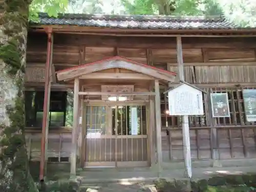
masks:
[[[0,0],[0,191],[35,192],[25,140],[24,73],[30,0]]]

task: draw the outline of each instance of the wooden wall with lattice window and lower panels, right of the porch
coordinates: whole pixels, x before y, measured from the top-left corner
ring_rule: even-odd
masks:
[[[246,121],[243,105],[243,89],[249,86],[201,87],[204,96],[204,116],[189,117],[191,156],[193,159],[210,159],[214,148],[220,159],[256,158],[255,122]],[[212,118],[210,111],[210,93],[228,93],[230,117]],[[164,106],[163,106],[164,105]],[[165,104],[162,104],[164,113]],[[166,121],[169,126],[166,126]],[[162,115],[162,147],[165,161],[183,158],[181,119]],[[212,133],[216,130],[216,134]]]

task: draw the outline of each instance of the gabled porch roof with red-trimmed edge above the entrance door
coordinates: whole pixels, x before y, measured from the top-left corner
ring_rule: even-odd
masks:
[[[176,76],[175,72],[170,72],[162,69],[158,69],[153,66],[148,66],[140,62],[136,62],[130,59],[126,59],[120,56],[114,56],[108,59],[99,60],[96,62],[87,63],[77,67],[57,71],[57,78],[61,80],[70,80],[77,78],[82,75],[112,69],[112,68],[122,68],[131,70],[137,73],[142,73],[144,75],[153,77],[155,79],[174,81]]]

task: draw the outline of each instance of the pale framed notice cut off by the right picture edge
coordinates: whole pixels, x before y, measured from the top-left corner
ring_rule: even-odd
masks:
[[[244,110],[247,121],[256,121],[256,90],[243,90]]]

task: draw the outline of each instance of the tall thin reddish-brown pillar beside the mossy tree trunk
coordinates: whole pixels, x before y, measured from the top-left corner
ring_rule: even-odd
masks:
[[[50,94],[51,94],[51,65],[53,51],[53,34],[52,28],[46,29],[48,35],[47,41],[47,58],[45,70],[45,97],[44,97],[44,113],[42,115],[42,136],[41,136],[41,158],[40,158],[40,181],[44,180],[46,152],[48,143],[48,127],[49,127],[49,110],[50,110]]]

